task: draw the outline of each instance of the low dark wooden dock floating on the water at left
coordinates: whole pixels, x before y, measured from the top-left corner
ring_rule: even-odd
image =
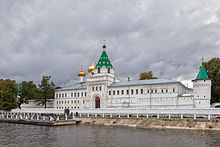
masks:
[[[65,125],[77,125],[80,121],[77,120],[49,121],[49,120],[25,120],[25,119],[1,118],[0,122],[39,125],[39,126],[65,126]]]

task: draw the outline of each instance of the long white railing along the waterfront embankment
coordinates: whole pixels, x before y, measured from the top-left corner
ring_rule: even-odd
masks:
[[[16,109],[10,112],[0,111],[0,118],[17,119],[59,119],[64,115],[64,110],[57,109]],[[78,117],[109,117],[109,118],[155,118],[155,119],[218,119],[220,109],[71,109],[70,118]]]

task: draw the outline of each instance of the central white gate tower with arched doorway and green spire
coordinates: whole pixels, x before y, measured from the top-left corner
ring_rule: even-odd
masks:
[[[94,66],[89,67],[91,73],[87,76],[87,93],[90,101],[90,108],[107,108],[108,107],[108,85],[115,82],[114,68],[106,52],[104,41],[101,57]]]

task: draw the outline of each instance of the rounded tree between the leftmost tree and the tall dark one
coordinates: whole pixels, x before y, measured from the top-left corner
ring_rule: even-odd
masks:
[[[18,88],[18,107],[21,109],[21,104],[28,103],[28,100],[37,98],[38,91],[37,86],[33,83],[33,81],[22,81],[19,86],[20,90]]]

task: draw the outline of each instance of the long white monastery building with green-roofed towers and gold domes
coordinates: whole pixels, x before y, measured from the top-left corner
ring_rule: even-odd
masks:
[[[209,108],[211,80],[205,68],[193,80],[193,89],[166,79],[120,82],[106,53],[88,69],[78,73],[79,82],[55,91],[56,109],[88,108]]]

